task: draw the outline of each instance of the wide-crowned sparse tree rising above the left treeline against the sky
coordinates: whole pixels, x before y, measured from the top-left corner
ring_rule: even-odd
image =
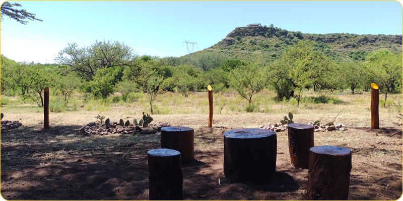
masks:
[[[89,47],[80,48],[68,44],[55,57],[59,64],[69,65],[81,77],[90,81],[98,69],[129,66],[136,57],[133,50],[118,41],[95,41]]]

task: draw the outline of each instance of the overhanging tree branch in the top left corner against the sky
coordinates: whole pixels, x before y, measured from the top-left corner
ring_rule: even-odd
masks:
[[[11,4],[9,2],[4,2],[0,11],[1,11],[1,20],[3,21],[4,17],[9,17],[11,19],[16,20],[17,22],[26,25],[28,23],[27,20],[31,20],[31,21],[39,21],[42,22],[42,20],[38,19],[35,17],[35,14],[32,13],[28,13],[26,10],[22,9],[22,10],[18,10],[16,8],[13,7],[22,7],[21,4]]]

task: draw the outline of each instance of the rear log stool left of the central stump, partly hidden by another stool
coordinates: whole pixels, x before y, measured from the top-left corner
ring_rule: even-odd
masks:
[[[182,164],[194,161],[194,131],[184,126],[161,128],[161,148],[179,151]]]

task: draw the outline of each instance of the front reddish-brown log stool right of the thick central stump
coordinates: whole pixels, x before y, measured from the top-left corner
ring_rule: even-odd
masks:
[[[343,147],[312,147],[309,154],[307,200],[347,200],[351,150]]]

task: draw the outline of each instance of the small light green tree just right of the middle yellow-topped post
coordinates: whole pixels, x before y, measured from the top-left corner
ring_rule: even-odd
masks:
[[[254,93],[262,89],[267,83],[265,68],[256,64],[239,66],[230,71],[230,85],[239,95],[249,101],[252,101]]]

